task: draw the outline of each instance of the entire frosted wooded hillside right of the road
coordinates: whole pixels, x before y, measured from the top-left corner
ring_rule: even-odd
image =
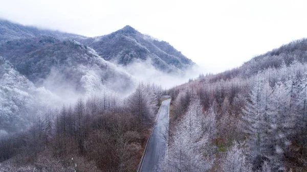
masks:
[[[306,45],[306,39],[298,40],[236,69],[170,89],[168,168],[306,169]],[[192,163],[198,161],[207,163]]]

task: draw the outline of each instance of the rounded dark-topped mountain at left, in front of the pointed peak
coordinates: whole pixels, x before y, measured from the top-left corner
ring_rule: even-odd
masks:
[[[11,40],[0,45],[0,56],[36,86],[53,91],[91,92],[105,85],[125,92],[134,87],[127,72],[74,40],[61,41],[50,36]]]

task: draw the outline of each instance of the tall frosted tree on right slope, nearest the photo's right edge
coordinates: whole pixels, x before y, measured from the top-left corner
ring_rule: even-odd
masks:
[[[271,148],[267,154],[270,157],[270,164],[274,168],[283,168],[284,152],[291,143],[295,122],[297,117],[298,88],[296,88],[295,78],[286,83],[278,82],[272,94],[272,103],[270,104],[267,147]]]

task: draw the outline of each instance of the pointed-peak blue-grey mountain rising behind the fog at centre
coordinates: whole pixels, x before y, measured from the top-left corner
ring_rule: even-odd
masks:
[[[165,41],[141,34],[130,26],[114,33],[94,38],[77,38],[96,50],[99,56],[116,64],[150,61],[164,72],[184,71],[194,63]]]

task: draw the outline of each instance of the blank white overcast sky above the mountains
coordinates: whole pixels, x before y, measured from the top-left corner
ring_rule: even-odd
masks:
[[[0,18],[85,36],[126,25],[165,40],[206,72],[307,37],[307,1],[0,0]]]

